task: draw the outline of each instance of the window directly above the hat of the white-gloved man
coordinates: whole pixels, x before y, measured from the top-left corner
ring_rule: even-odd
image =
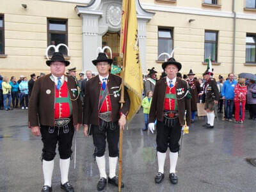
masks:
[[[158,29],[158,55],[162,52],[171,54],[173,50],[173,29]],[[158,60],[164,60],[166,56],[161,56]]]

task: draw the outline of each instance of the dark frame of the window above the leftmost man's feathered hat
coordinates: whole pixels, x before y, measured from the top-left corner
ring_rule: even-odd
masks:
[[[50,23],[51,20],[58,21],[58,22],[66,22],[66,31],[54,31],[50,30]],[[47,47],[51,45],[51,33],[58,34],[58,35],[66,35],[65,41],[66,45],[68,46],[68,19],[60,19],[60,18],[47,18]],[[67,56],[67,55],[64,55]]]

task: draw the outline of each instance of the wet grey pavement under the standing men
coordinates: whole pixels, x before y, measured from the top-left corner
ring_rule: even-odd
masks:
[[[42,141],[31,135],[27,113],[20,109],[0,111],[0,191],[34,192],[42,188]],[[196,120],[189,134],[183,137],[177,164],[179,183],[173,185],[168,180],[170,166],[166,156],[165,179],[155,184],[156,134],[141,131],[143,113],[138,113],[124,132],[122,191],[256,191],[256,167],[245,160],[256,157],[256,121],[245,120],[244,124],[215,121],[214,129],[204,129],[202,124],[203,118]],[[72,161],[68,176],[76,191],[97,191],[99,171],[93,161],[93,150],[92,138],[84,138],[81,129],[77,133],[76,170]],[[106,168],[108,172],[108,158]],[[58,155],[52,187],[61,191]],[[107,185],[104,191],[117,188]]]

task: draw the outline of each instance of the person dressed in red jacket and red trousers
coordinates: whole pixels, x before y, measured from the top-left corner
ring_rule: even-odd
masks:
[[[243,124],[244,122],[244,108],[246,103],[246,93],[247,93],[247,87],[245,85],[245,79],[239,78],[238,83],[236,84],[234,88],[235,96],[234,96],[234,102],[235,102],[235,118],[236,123]],[[240,118],[240,110],[241,110],[241,118]]]

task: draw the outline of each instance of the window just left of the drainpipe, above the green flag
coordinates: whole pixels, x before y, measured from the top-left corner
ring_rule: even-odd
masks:
[[[210,56],[212,62],[217,62],[217,52],[218,31],[205,31],[204,61],[206,61]]]

